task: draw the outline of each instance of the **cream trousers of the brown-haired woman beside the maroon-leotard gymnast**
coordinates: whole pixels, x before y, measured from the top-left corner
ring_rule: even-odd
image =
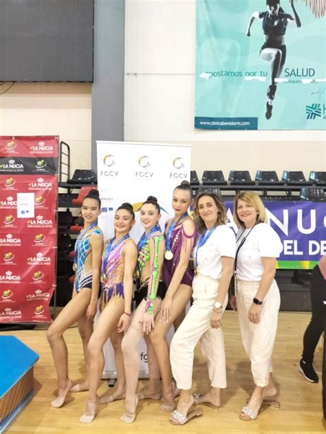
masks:
[[[200,340],[202,354],[208,360],[208,376],[212,387],[226,387],[226,356],[221,328],[210,327],[210,315],[219,281],[198,275],[193,280],[193,305],[175,332],[171,342],[170,360],[178,389],[191,389],[194,350]],[[228,303],[224,301],[223,310]]]

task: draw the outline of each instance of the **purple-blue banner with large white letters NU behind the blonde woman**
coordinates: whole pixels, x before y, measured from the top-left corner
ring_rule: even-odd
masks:
[[[228,225],[237,231],[232,212],[233,202],[225,202]],[[325,202],[264,202],[270,226],[283,244],[279,268],[314,268],[326,254]]]

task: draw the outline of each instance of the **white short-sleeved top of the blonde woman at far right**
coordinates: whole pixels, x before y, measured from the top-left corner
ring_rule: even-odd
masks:
[[[239,228],[237,233],[237,248],[242,239],[248,236],[238,253],[237,278],[257,282],[263,274],[261,257],[278,258],[283,246],[279,235],[269,224],[259,223],[252,228],[250,234],[249,231],[246,229],[243,232],[243,228]]]

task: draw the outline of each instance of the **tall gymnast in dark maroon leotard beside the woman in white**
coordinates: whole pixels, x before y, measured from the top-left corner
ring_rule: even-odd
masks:
[[[172,207],[175,217],[166,223],[164,237],[166,252],[163,279],[167,290],[160,305],[160,314],[155,318],[155,328],[150,334],[162,378],[162,411],[175,408],[175,384],[171,382],[169,345],[165,334],[170,325],[175,329],[183,321],[185,307],[191,299],[193,271],[189,268],[189,257],[197,238],[195,222],[188,215],[193,192],[187,181],[173,191]]]

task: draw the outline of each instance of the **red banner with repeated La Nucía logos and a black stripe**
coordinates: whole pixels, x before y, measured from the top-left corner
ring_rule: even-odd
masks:
[[[0,137],[0,323],[51,321],[57,166],[58,137]]]

